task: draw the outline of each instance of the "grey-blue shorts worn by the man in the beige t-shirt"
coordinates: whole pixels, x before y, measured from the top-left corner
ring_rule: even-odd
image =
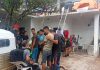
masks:
[[[46,63],[46,61],[51,61],[52,51],[44,51],[42,54],[42,63]]]

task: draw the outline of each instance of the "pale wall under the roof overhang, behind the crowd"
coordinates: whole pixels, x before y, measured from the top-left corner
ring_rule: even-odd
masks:
[[[36,28],[36,30],[42,29],[44,26],[49,26],[51,28],[58,27],[60,17],[46,17],[46,18],[31,18],[24,21],[22,26],[25,26],[29,36],[31,37],[31,28]],[[60,26],[63,26],[63,21]],[[88,26],[90,24],[90,26]],[[80,36],[79,44],[90,44],[93,41],[94,35],[94,24],[93,19],[89,18],[68,18],[66,20],[66,24],[64,25],[64,29],[70,31],[70,34],[75,34],[76,36]]]

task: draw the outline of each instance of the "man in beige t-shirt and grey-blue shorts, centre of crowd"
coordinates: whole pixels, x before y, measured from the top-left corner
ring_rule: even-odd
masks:
[[[44,40],[45,44],[44,44],[43,54],[42,54],[42,70],[46,70],[46,61],[47,61],[47,65],[51,68],[51,56],[52,56],[54,35],[50,33],[48,26],[45,26],[43,30],[46,33],[46,37]]]

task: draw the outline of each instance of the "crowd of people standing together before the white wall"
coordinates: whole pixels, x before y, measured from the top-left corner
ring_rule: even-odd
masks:
[[[65,38],[60,31],[61,29],[50,29],[48,26],[38,32],[32,28],[31,40],[29,40],[27,31],[17,31],[17,48],[26,48],[24,50],[25,62],[32,67],[34,63],[39,63],[39,56],[42,53],[42,70],[46,70],[46,67],[50,70],[60,70],[61,52],[64,52],[65,57],[69,56],[73,48],[72,43],[76,40],[74,35]]]

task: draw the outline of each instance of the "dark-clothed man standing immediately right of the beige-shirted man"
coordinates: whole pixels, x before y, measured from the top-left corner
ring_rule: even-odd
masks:
[[[61,56],[61,48],[62,48],[62,43],[61,43],[61,34],[57,34],[56,30],[53,30],[52,32],[54,34],[54,42],[53,47],[52,47],[52,64],[53,64],[53,70],[60,70],[60,56]]]

